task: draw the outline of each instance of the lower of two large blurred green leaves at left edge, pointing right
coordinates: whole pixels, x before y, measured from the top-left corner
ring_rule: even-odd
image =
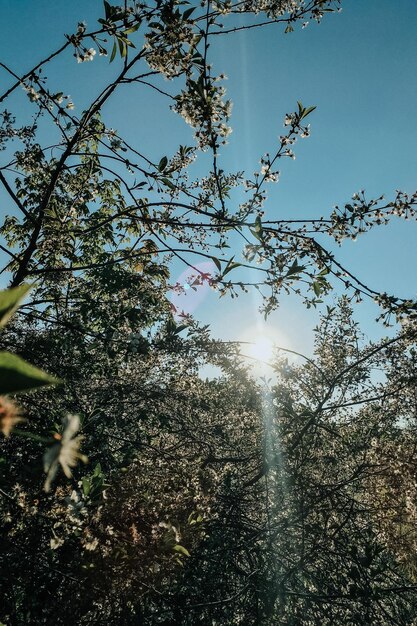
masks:
[[[45,385],[58,385],[60,382],[19,356],[0,352],[0,394],[28,391]]]

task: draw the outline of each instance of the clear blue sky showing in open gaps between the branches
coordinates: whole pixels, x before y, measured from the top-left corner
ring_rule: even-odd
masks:
[[[29,69],[59,46],[77,21],[93,25],[101,7],[96,0],[3,0],[2,60],[18,73]],[[213,42],[215,70],[228,75],[234,101],[233,134],[222,151],[225,170],[258,169],[259,157],[273,151],[284,115],[296,101],[317,106],[311,137],[299,142],[296,161],[283,162],[280,183],[269,187],[270,219],[326,214],[362,188],[369,197],[415,191],[416,24],[415,0],[347,0],[342,13],[325,16],[319,26],[312,23],[289,35],[282,27],[268,26]],[[66,64],[51,68],[48,76],[57,90],[73,96],[80,111],[115,71],[106,59],[77,65],[68,55]],[[0,74],[0,84],[7,83]],[[104,116],[156,159],[179,142],[191,141],[189,128],[166,108],[143,90],[120,91]],[[370,286],[415,297],[415,233],[414,223],[396,222],[344,245],[339,256]],[[191,308],[192,297],[187,296]],[[195,316],[210,323],[219,337],[238,339],[256,324],[252,296],[219,301],[207,293],[198,300]],[[372,323],[376,313],[371,304],[358,308],[372,337],[385,333]],[[284,299],[268,324],[279,329],[288,347],[309,351],[316,320],[317,314],[306,312],[301,302]]]

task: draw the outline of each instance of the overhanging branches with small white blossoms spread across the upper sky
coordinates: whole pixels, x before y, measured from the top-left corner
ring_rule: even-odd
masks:
[[[8,148],[0,183],[11,204],[1,233],[8,256],[3,271],[11,273],[11,285],[36,280],[34,299],[42,301],[42,317],[49,319],[64,292],[68,302],[79,302],[77,285],[85,276],[106,271],[119,279],[138,279],[143,274],[141,282],[149,266],[164,282],[169,262],[177,260],[194,269],[196,285],[208,282],[220,293],[255,283],[266,312],[278,305],[282,290],[315,304],[334,280],[357,298],[375,298],[382,316],[413,311],[413,302],[364,285],[319,243],[317,234],[340,242],[386,223],[394,214],[414,216],[416,196],[399,192],[385,202],[358,194],[325,218],[268,219],[266,186],[277,180],[280,161],[294,155],[297,139],[309,134],[307,118],[314,107],[298,103],[286,116],[278,145],[262,156],[261,169],[252,178],[226,172],[221,164],[220,148],[231,130],[231,103],[224,76],[212,73],[209,46],[219,37],[238,36],[233,33],[269,22],[288,32],[300,21],[320,21],[338,8],[339,0],[207,2],[198,8],[182,2],[105,2],[97,27],[80,22],[61,48],[23,76],[2,64],[10,86],[0,101],[7,106],[19,91],[32,108],[26,123],[19,123],[8,109],[2,112],[0,138]],[[247,23],[239,21],[238,26],[236,15]],[[108,84],[79,114],[74,112],[76,98],[65,94],[65,86],[50,86],[45,78],[49,65],[70,63],[71,52],[79,63],[103,63],[99,56],[112,61]],[[192,126],[194,145],[181,145],[155,159],[119,136],[113,128],[117,119],[111,119],[110,127],[102,111],[129,86],[158,93],[171,114]],[[48,124],[43,145],[40,138]],[[211,163],[204,175],[192,177],[191,164],[203,152],[211,155]],[[246,199],[235,206],[231,194],[242,185]],[[242,241],[244,260],[227,253],[231,233]],[[211,260],[213,270],[196,268],[199,258]],[[239,266],[257,268],[256,278],[243,280]],[[175,283],[170,287],[183,288]]]

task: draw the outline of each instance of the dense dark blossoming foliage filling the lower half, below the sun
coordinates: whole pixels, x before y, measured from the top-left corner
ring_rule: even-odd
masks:
[[[33,442],[14,459],[6,623],[65,623],[58,606],[92,624],[412,623],[413,330],[363,344],[342,301],[314,359],[280,357],[271,388],[190,332],[175,352],[130,357],[111,389],[102,354],[82,388],[42,399],[52,414],[84,409],[92,465],[40,495],[41,468],[25,469]],[[230,365],[204,381],[210,351]]]

